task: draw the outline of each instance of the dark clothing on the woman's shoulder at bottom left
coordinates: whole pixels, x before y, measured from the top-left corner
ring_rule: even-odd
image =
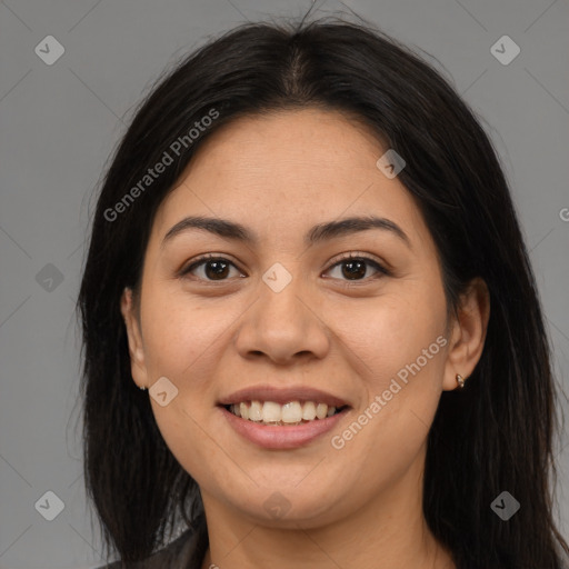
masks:
[[[199,538],[198,531],[188,529],[168,546],[131,567],[132,569],[178,569],[180,567],[199,569],[202,560],[200,550],[203,549],[200,547]],[[123,566],[119,560],[97,569],[123,569]]]

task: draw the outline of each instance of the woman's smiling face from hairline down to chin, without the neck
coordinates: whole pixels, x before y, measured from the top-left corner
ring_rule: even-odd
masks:
[[[432,238],[377,166],[387,150],[337,112],[242,118],[161,204],[139,317],[123,297],[132,373],[154,386],[157,423],[207,508],[308,528],[419,487],[441,391],[468,370],[449,357]],[[342,224],[371,217],[385,221]],[[222,260],[191,268],[204,254]]]

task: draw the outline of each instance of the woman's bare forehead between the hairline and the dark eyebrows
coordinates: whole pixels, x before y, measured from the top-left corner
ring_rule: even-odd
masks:
[[[387,150],[369,127],[337,111],[236,119],[198,148],[161,204],[152,233],[161,239],[190,213],[233,219],[264,237],[373,213],[405,226],[411,239],[426,239],[407,189],[377,167]]]

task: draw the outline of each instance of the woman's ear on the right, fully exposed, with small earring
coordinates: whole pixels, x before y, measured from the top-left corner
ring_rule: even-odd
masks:
[[[445,391],[458,387],[457,373],[467,380],[482,355],[490,318],[490,293],[481,278],[472,279],[468,290],[460,297],[457,313],[451,326],[445,367]]]

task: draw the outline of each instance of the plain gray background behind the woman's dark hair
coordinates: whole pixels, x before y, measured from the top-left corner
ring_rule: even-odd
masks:
[[[309,4],[0,1],[0,568],[100,565],[81,475],[73,302],[92,191],[132,107],[164,66],[209,36],[244,20],[299,16]],[[317,16],[342,8],[332,0],[318,6]],[[531,250],[559,383],[569,391],[568,1],[343,6],[429,52],[427,60],[483,117]],[[509,64],[490,51],[503,34],[521,49]],[[51,66],[34,52],[39,44],[53,56],[47,36],[64,47]],[[567,413],[567,401],[561,406]],[[567,432],[556,452],[567,536]],[[52,521],[34,507],[49,490],[64,503]]]

